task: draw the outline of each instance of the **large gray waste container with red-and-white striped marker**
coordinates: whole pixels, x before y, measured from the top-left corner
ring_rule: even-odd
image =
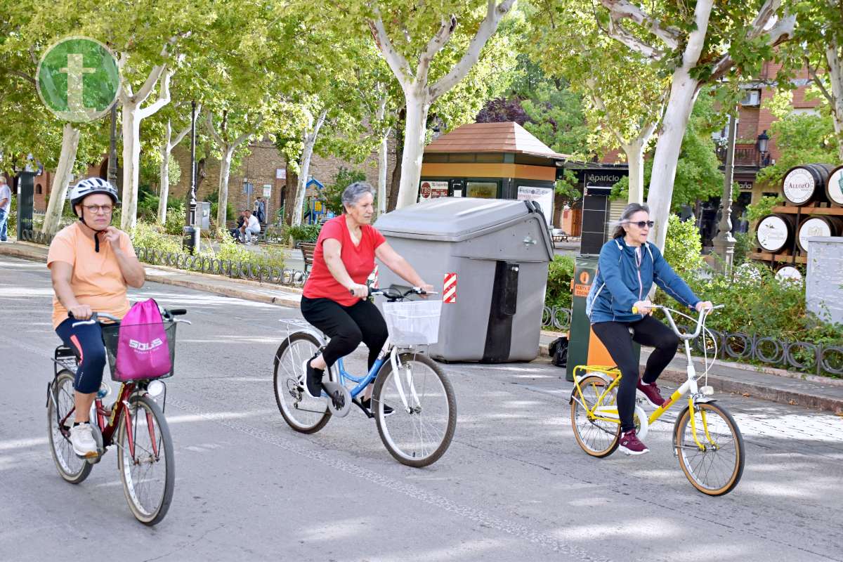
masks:
[[[553,244],[533,201],[443,197],[392,211],[375,227],[442,293],[443,361],[532,361],[539,355]],[[448,289],[443,292],[446,277]],[[380,286],[406,285],[379,265]],[[454,302],[451,302],[451,301]]]

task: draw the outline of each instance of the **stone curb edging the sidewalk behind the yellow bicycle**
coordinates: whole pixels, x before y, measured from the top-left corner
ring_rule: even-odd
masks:
[[[539,345],[539,355],[541,357],[550,356],[547,344]],[[728,366],[731,367],[731,366]],[[745,369],[745,371],[753,371],[752,369]],[[779,371],[781,369],[776,369]],[[644,369],[642,367],[642,372]],[[773,376],[781,376],[778,373],[765,373]],[[673,368],[666,368],[661,377],[671,383],[684,383],[688,378],[685,371]],[[796,378],[796,377],[787,377]],[[816,377],[814,377],[816,378]],[[835,414],[843,414],[843,399],[829,398],[820,394],[811,392],[797,392],[794,390],[782,390],[780,388],[770,388],[760,384],[741,383],[732,378],[718,377],[716,374],[708,373],[708,383],[717,392],[740,394],[746,398],[756,398],[776,402],[778,404],[789,404],[791,406],[803,406],[811,409],[821,409]]]

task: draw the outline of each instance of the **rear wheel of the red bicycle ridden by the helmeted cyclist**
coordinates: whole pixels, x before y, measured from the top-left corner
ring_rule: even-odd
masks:
[[[47,397],[47,436],[58,474],[71,484],[79,484],[91,474],[93,465],[78,457],[70,444],[73,408],[73,374],[70,371],[59,372]],[[62,420],[63,427],[59,426]]]

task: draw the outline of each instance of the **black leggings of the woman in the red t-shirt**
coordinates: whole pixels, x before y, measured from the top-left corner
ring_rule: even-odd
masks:
[[[330,298],[302,297],[302,315],[330,337],[322,353],[328,367],[356,350],[362,341],[369,349],[368,368],[371,369],[389,337],[384,317],[366,300],[344,307]]]

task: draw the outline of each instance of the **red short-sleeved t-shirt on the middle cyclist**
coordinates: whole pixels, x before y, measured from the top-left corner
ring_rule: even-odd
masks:
[[[310,270],[308,281],[304,283],[304,296],[308,298],[330,298],[330,300],[350,307],[360,299],[352,297],[346,287],[341,286],[334,276],[330,274],[328,265],[325,263],[325,255],[322,251],[322,244],[327,238],[334,238],[341,244],[340,258],[346,266],[348,275],[352,280],[365,285],[366,279],[374,269],[374,250],[386,242],[384,235],[378,229],[368,225],[360,227],[362,236],[360,244],[354,245],[352,235],[346,226],[346,216],[341,215],[330,219],[322,226],[319,238],[316,240],[314,249],[314,265]]]

